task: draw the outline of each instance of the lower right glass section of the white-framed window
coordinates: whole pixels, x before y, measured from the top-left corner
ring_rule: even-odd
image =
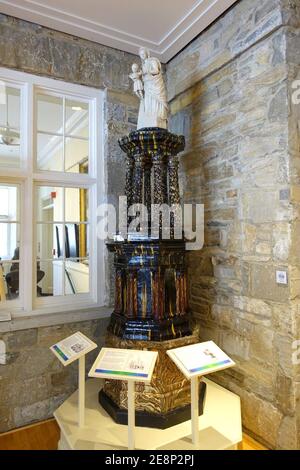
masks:
[[[87,195],[86,188],[37,188],[38,296],[90,291]]]

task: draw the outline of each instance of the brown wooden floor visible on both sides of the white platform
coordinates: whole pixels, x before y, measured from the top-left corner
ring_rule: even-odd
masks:
[[[43,421],[5,434],[0,434],[0,450],[56,450],[59,428],[54,420]],[[267,450],[244,435],[240,450]]]

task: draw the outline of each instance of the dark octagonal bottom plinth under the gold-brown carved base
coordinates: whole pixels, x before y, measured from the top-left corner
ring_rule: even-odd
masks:
[[[199,386],[199,416],[204,413],[206,396],[206,384]],[[128,424],[128,412],[124,408],[118,407],[113,400],[106,395],[104,390],[99,392],[99,403],[103,409],[111,416],[117,424]],[[135,425],[144,428],[167,429],[171,426],[184,423],[191,419],[191,405],[176,408],[167,413],[149,413],[147,411],[136,411]]]

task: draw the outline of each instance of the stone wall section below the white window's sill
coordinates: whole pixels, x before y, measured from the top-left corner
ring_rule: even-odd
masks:
[[[69,323],[0,334],[6,365],[0,365],[0,433],[53,416],[78,387],[77,361],[64,367],[49,347],[81,331],[104,345],[108,320]],[[99,351],[86,356],[88,371]]]

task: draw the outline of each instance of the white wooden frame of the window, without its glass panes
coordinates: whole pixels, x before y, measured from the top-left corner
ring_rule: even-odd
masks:
[[[0,81],[20,89],[20,168],[0,168],[0,183],[20,188],[20,298],[0,302],[13,318],[87,310],[105,305],[105,243],[98,240],[97,206],[106,200],[104,167],[104,91],[39,77],[0,67]],[[49,92],[90,102],[89,174],[39,171],[36,166],[36,92]],[[23,137],[22,137],[23,136]],[[27,158],[26,158],[27,156]],[[35,188],[39,185],[90,188],[89,246],[90,293],[57,297],[36,297],[36,219]],[[28,221],[32,221],[28,223]],[[1,305],[2,304],[2,305]]]

